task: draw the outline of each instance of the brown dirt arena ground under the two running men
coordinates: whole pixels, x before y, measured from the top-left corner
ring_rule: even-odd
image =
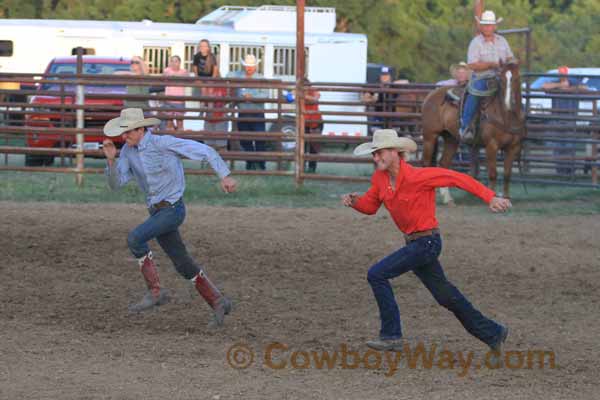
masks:
[[[4,202],[0,215],[1,399],[598,398],[598,217],[439,211],[447,275],[510,326],[507,350],[517,354],[511,368],[463,373],[402,358],[393,370],[395,353],[363,346],[378,331],[367,269],[403,243],[383,212],[188,206],[184,238],[235,301],[216,332],[156,245],[175,301],[128,315],[143,291],[125,244],[141,205]],[[393,285],[409,346],[472,351],[483,364],[485,346],[413,274]],[[250,360],[229,351],[236,344],[254,354],[247,368],[231,366]],[[554,352],[554,368],[518,368],[530,350]],[[338,351],[331,368],[310,358],[324,351]]]

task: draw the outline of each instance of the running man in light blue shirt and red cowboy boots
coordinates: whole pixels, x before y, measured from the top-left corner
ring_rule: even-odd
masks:
[[[179,233],[179,226],[185,219],[185,175],[181,160],[208,161],[221,179],[221,188],[226,193],[235,191],[236,181],[229,176],[227,164],[209,146],[170,135],[154,135],[147,129],[159,123],[159,119],[144,118],[144,113],[139,108],[126,108],[119,117],[111,119],[104,126],[107,138],[102,150],[106,156],[105,173],[110,188],[116,190],[134,179],[146,195],[150,214],[127,237],[129,250],[137,259],[148,288],[141,301],[132,304],[129,309],[137,313],[169,301],[169,292],[160,285],[148,246],[150,240],[156,239],[177,272],[190,280],[212,307],[214,317],[210,325],[220,326],[225,314],[231,311],[231,301],[217,289],[190,256]],[[125,144],[116,161],[117,150],[111,138],[119,136]]]

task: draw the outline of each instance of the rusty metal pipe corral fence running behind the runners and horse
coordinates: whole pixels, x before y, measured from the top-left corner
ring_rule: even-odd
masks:
[[[598,188],[600,92],[583,88],[531,90],[529,80],[545,75],[522,76],[528,135],[520,163],[513,166],[516,170],[513,181]],[[165,87],[183,87],[185,95],[167,95]],[[214,88],[221,88],[221,93],[214,94]],[[298,90],[303,95],[314,94],[314,91],[321,95],[335,94],[322,96],[317,103],[326,126],[352,125],[364,127],[369,133],[376,128],[396,129],[419,144],[419,152],[411,161],[418,165],[422,143],[420,108],[425,96],[434,88],[431,84],[3,73],[0,74],[0,153],[4,160],[0,162],[0,170],[74,173],[81,184],[84,174],[103,172],[97,162],[87,165],[88,160],[103,157],[99,145],[103,125],[117,117],[122,108],[135,104],[142,105],[147,115],[163,121],[183,119],[188,126],[201,126],[198,124],[206,121],[215,126],[215,121],[221,122],[219,130],[168,129],[161,124],[154,133],[213,145],[230,162],[234,174],[289,176],[298,184],[306,179],[368,181],[368,174],[349,176],[306,171],[304,166],[309,162],[371,163],[370,158],[357,158],[350,152],[370,138],[352,132],[318,133],[318,127],[316,131],[314,128],[317,112],[305,107],[298,112],[297,104],[290,99],[297,98]],[[248,99],[240,95],[248,89],[263,89],[267,96]],[[571,106],[566,109],[556,106],[565,102]],[[241,103],[252,103],[257,108],[240,108]],[[297,116],[302,124],[297,125]],[[239,129],[248,122],[263,123],[263,129]],[[307,123],[309,127],[305,131],[297,132],[296,126]],[[248,151],[244,145],[248,142],[254,142],[258,151]],[[467,170],[472,161],[470,154],[470,149],[462,146],[453,168]],[[24,155],[22,164],[9,155]],[[483,152],[479,152],[479,164],[485,166],[483,159]],[[236,161],[247,161],[254,166],[267,162],[269,168],[239,168],[240,163]],[[205,167],[187,168],[186,172],[212,173]]]

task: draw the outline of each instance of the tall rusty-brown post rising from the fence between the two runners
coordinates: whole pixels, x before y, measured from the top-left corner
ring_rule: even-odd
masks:
[[[296,0],[296,185],[304,179],[304,3]]]

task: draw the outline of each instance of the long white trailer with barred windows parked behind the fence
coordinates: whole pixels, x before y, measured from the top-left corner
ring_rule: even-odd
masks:
[[[334,8],[305,11],[306,70],[313,82],[365,83],[367,38],[334,32]],[[161,73],[171,55],[191,70],[196,46],[208,39],[221,76],[241,69],[247,53],[259,59],[265,78],[295,80],[296,9],[289,6],[224,6],[195,24],[0,19],[0,72],[41,73],[48,62],[77,47],[98,56],[142,56],[151,73]],[[323,92],[323,101],[358,101],[358,94]],[[362,111],[364,107],[322,106],[322,111]],[[325,122],[328,119],[324,117]],[[337,119],[340,119],[337,117]],[[364,121],[364,117],[344,116]],[[191,121],[189,121],[191,122]],[[364,136],[365,125],[327,124],[324,134]]]

